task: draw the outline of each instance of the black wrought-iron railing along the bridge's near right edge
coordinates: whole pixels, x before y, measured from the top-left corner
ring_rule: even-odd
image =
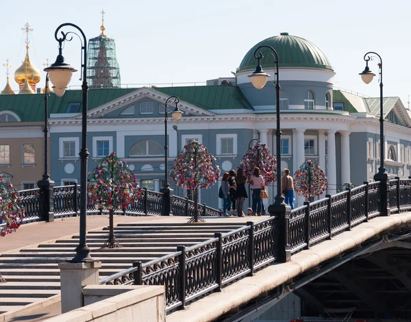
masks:
[[[162,258],[144,264],[134,262],[130,269],[105,277],[100,284],[164,285],[167,310],[184,308],[190,301],[253,275],[275,260],[284,261],[285,252],[309,249],[384,213],[382,184],[388,185],[386,197],[391,212],[411,210],[411,179],[364,182],[337,195],[306,202],[290,214],[247,222],[227,234],[216,233],[198,245],[179,246]],[[181,198],[177,201],[175,207],[183,209],[184,202]]]

